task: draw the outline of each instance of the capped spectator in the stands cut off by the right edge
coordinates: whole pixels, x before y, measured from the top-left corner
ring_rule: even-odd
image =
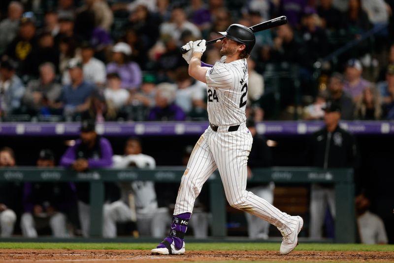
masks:
[[[386,71],[386,81],[378,83],[382,95],[383,115],[387,119],[394,119],[394,64],[389,65]]]

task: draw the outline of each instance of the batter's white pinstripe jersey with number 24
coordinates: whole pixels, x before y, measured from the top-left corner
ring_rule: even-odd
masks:
[[[248,65],[246,59],[224,63],[226,56],[207,71],[207,111],[209,122],[232,126],[246,121]]]

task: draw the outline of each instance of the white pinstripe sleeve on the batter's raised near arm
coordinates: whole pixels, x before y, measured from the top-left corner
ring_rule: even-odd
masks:
[[[220,62],[216,62],[205,75],[207,85],[218,88],[230,88],[233,77],[227,66]]]

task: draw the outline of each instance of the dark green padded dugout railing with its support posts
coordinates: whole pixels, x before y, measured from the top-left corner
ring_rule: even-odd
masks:
[[[0,182],[90,182],[91,224],[90,236],[101,237],[104,182],[154,181],[180,183],[184,167],[157,167],[147,169],[98,169],[78,173],[61,167],[0,168]],[[330,184],[334,185],[336,200],[335,239],[337,243],[356,242],[354,211],[354,183],[352,169],[316,169],[310,167],[272,167],[253,170],[249,182],[275,182],[282,185]],[[224,238],[226,229],[226,197],[219,173],[215,171],[207,182],[213,217],[211,236]],[[100,216],[101,215],[101,216]]]

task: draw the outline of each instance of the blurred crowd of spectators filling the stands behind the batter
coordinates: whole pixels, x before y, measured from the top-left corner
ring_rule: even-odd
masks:
[[[286,15],[288,24],[256,33],[248,117],[321,119],[333,99],[344,119],[393,119],[393,8],[394,0],[2,0],[0,117],[205,120],[205,85],[188,75],[179,47]],[[219,49],[202,60],[214,64]]]

